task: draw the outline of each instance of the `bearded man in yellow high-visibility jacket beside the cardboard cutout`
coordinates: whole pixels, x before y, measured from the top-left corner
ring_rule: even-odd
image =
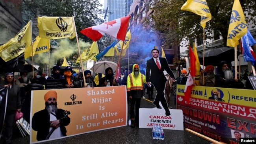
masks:
[[[146,82],[144,74],[139,72],[139,65],[134,64],[132,73],[127,77],[127,96],[130,99],[130,119],[131,127],[139,126],[139,108],[141,105],[141,98],[143,97],[143,83]],[[135,106],[135,113],[134,113]]]

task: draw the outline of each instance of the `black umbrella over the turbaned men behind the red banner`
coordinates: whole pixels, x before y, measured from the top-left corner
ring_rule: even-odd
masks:
[[[237,52],[237,57],[240,52]],[[217,66],[221,61],[232,62],[235,60],[234,48],[215,48],[204,54],[204,66]],[[200,64],[203,64],[203,55],[199,57]]]

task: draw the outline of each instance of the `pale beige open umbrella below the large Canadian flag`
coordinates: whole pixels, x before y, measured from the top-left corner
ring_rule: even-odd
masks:
[[[93,65],[91,70],[95,73],[102,73],[105,74],[106,68],[111,67],[113,72],[115,72],[117,68],[117,63],[114,63],[112,61],[99,61]]]

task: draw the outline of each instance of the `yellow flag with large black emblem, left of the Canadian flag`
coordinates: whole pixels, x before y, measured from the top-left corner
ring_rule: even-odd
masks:
[[[73,17],[37,17],[39,37],[73,39],[76,37]]]

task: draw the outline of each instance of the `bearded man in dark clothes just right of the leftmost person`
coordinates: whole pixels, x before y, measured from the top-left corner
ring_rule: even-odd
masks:
[[[30,77],[28,76],[28,72],[26,70],[24,70],[23,72],[20,72],[20,78],[16,79],[15,84],[20,87],[21,107],[23,105],[24,97],[26,94],[26,87],[29,83],[31,82],[30,82]]]

